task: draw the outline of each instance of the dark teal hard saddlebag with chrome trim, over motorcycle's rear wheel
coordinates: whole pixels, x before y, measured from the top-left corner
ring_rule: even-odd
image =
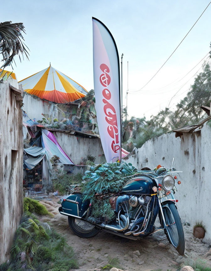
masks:
[[[81,218],[89,208],[89,201],[83,202],[82,194],[69,195],[67,199],[63,199],[59,212],[62,215],[70,215]]]

